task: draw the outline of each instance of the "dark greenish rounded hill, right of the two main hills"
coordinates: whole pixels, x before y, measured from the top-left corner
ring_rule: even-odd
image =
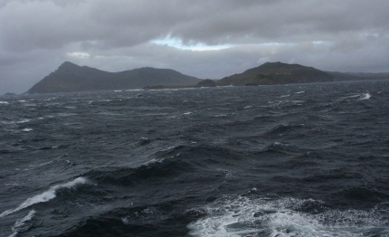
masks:
[[[217,81],[218,85],[270,85],[334,81],[335,76],[325,71],[282,62],[266,62],[239,74]]]

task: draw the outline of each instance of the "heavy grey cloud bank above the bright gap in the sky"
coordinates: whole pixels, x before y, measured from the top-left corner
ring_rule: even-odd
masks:
[[[320,40],[388,30],[387,1],[14,1],[0,17],[3,42],[17,49],[94,39],[132,46],[172,34],[186,43]],[[18,17],[14,17],[18,15]],[[31,17],[33,15],[33,17]]]

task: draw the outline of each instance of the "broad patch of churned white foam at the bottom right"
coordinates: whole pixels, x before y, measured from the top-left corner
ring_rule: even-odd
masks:
[[[225,196],[190,223],[192,236],[386,236],[388,204],[362,211],[333,210],[321,201],[292,197]]]

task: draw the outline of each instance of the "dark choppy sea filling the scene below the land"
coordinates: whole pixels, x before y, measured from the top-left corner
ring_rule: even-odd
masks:
[[[389,236],[389,81],[0,98],[1,236]]]

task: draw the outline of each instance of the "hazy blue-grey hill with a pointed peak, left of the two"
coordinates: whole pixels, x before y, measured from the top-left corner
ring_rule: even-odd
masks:
[[[200,80],[169,69],[140,68],[108,72],[63,62],[54,72],[28,90],[28,93],[54,93],[90,90],[128,90],[159,84],[194,85]]]

